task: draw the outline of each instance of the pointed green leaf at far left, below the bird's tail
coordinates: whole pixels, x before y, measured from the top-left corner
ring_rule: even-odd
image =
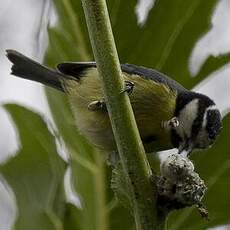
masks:
[[[15,229],[62,229],[65,163],[42,117],[19,105],[4,106],[17,126],[21,148],[0,166],[18,205]]]

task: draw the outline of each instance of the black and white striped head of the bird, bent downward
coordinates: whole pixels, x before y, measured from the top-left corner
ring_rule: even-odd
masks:
[[[179,94],[175,116],[180,124],[172,130],[172,143],[180,152],[210,147],[221,130],[220,111],[203,94],[189,91]]]

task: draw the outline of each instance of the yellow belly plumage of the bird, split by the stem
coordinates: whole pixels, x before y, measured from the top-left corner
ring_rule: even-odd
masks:
[[[139,76],[124,74],[124,79],[134,83],[130,101],[146,152],[171,148],[170,133],[161,127],[161,122],[173,117],[176,93],[163,84]],[[88,109],[91,102],[103,98],[97,70],[90,69],[79,82],[65,82],[65,88],[80,132],[96,146],[115,150],[107,112]]]

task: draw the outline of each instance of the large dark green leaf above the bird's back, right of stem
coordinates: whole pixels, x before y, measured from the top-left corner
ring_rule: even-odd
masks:
[[[196,41],[210,28],[217,2],[157,0],[140,27],[133,15],[136,1],[120,5],[109,1],[117,7],[117,16],[111,20],[121,62],[156,68],[185,87],[193,87],[196,82],[190,78],[188,59]]]

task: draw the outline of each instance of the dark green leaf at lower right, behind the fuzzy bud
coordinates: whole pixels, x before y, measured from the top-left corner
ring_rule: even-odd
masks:
[[[196,171],[208,187],[204,204],[209,211],[210,221],[202,219],[194,208],[183,209],[171,215],[170,230],[207,229],[229,223],[230,159],[226,148],[230,135],[229,124],[230,115],[224,118],[224,128],[217,143],[209,150],[197,152],[193,156]]]

